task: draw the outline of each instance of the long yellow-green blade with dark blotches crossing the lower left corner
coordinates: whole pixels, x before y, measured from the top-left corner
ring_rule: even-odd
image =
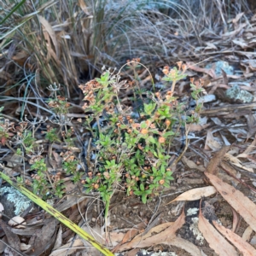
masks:
[[[11,186],[15,187],[15,189],[18,189],[20,193],[22,193],[23,195],[26,195],[31,201],[35,202],[39,207],[42,207],[46,212],[49,212],[49,214],[57,218],[62,224],[66,225],[70,230],[73,230],[81,238],[85,239],[86,241],[89,241],[90,244],[93,247],[96,247],[96,249],[99,250],[101,253],[107,256],[108,255],[113,256],[113,253],[111,253],[107,248],[102,247],[102,245],[98,243],[92,236],[90,236],[88,233],[82,230],[78,225],[74,224],[70,219],[65,217],[61,212],[56,211],[54,207],[49,206],[48,203],[43,201],[37,195],[32,194],[32,192],[30,192],[28,189],[24,188],[23,186],[16,183],[15,181],[12,181],[10,177],[3,174],[3,172],[0,172],[0,177],[2,177]]]

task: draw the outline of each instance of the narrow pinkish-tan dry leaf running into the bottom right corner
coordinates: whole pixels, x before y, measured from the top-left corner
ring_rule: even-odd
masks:
[[[236,248],[244,255],[244,256],[255,256],[256,250],[249,244],[247,241],[244,241],[241,236],[236,235],[236,233],[232,232],[229,229],[226,229],[224,226],[218,224],[216,221],[212,221],[215,228],[225,236],[229,241],[232,242],[236,246]]]

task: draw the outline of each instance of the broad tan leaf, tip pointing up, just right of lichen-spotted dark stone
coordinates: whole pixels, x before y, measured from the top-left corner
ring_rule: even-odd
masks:
[[[215,253],[221,256],[238,256],[235,247],[231,246],[230,243],[214,229],[212,224],[208,222],[207,218],[204,218],[201,213],[201,209],[199,212],[198,229],[201,231],[204,238],[209,243],[209,246]]]

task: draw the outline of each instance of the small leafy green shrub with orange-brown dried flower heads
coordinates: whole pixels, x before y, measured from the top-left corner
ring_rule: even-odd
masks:
[[[136,61],[127,65],[136,70]],[[115,189],[126,190],[128,195],[139,195],[144,203],[150,195],[157,195],[163,187],[169,187],[172,170],[169,166],[170,148],[173,138],[179,136],[179,128],[199,119],[199,108],[187,117],[184,104],[173,96],[178,80],[185,78],[186,66],[178,62],[175,67],[164,68],[166,77],[172,82],[171,90],[162,95],[148,92],[140,108],[124,108],[119,101],[119,90],[129,85],[121,81],[119,73],[103,70],[100,79],[80,85],[84,92],[84,109],[93,112],[85,125],[92,128],[97,148],[95,170],[89,170],[84,187],[96,190],[103,201],[109,201]],[[201,84],[191,84],[195,100],[201,94]],[[95,122],[96,125],[92,125]],[[93,175],[91,174],[93,173]]]

